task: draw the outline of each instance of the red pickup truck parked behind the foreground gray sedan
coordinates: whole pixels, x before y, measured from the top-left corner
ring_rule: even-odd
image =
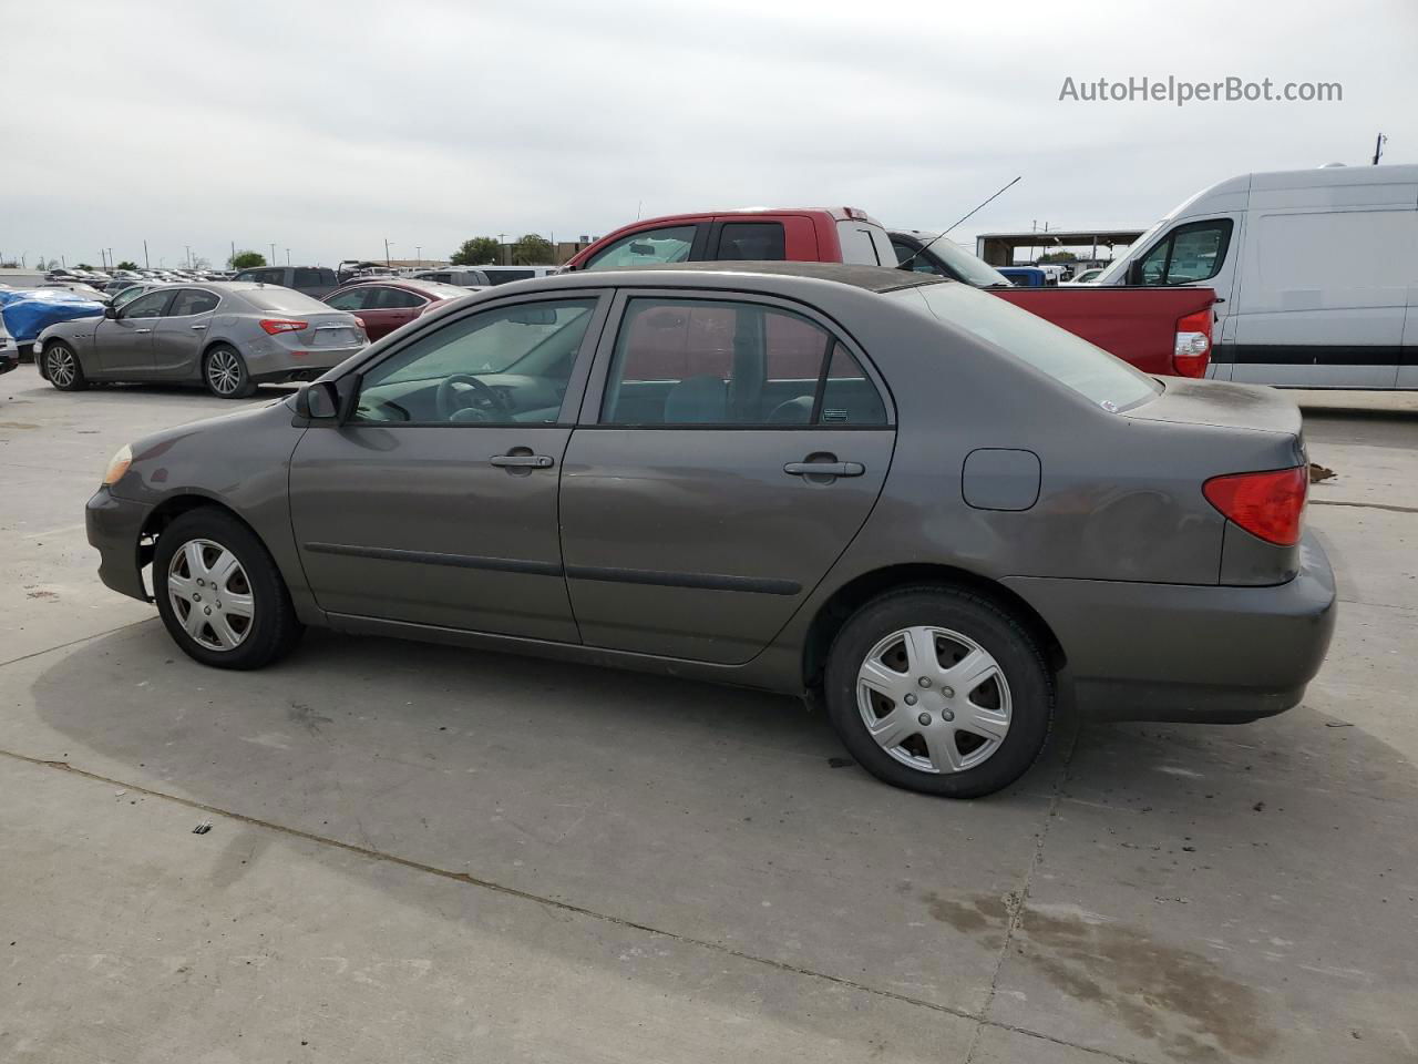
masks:
[[[1015,288],[994,267],[949,240],[927,247],[929,241],[930,234],[888,234],[855,207],[705,211],[624,226],[583,248],[566,268],[634,270],[654,262],[732,260],[873,265],[909,261],[910,270],[950,277],[1008,299],[1144,373],[1207,373],[1215,302],[1210,288]]]

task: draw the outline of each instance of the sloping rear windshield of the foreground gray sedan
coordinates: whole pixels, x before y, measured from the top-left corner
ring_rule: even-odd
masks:
[[[1161,392],[1156,380],[1102,348],[976,288],[926,284],[891,298],[974,333],[1105,410],[1126,410]]]

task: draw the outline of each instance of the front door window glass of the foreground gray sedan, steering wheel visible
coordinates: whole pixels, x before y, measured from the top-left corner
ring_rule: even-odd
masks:
[[[354,420],[554,424],[594,309],[513,304],[442,325],[364,375]]]

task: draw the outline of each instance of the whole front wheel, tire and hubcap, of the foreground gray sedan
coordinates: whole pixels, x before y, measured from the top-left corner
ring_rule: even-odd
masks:
[[[167,634],[204,665],[261,668],[303,631],[269,552],[217,509],[190,511],[163,529],[153,594]]]

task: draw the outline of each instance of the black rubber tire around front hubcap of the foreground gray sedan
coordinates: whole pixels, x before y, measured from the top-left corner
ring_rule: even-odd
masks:
[[[244,573],[242,584],[252,604],[251,617],[241,641],[228,650],[203,645],[191,636],[183,617],[177,613],[180,607],[173,603],[169,594],[173,558],[194,541],[207,541],[231,552]],[[241,593],[242,584],[235,586],[234,593]],[[208,587],[214,587],[214,584],[207,583],[201,592]],[[223,593],[225,589],[210,592],[218,607],[220,602],[214,597]],[[291,606],[291,594],[271,552],[251,529],[225,511],[216,508],[189,511],[163,529],[153,553],[153,597],[157,600],[157,613],[167,627],[167,634],[182,647],[183,653],[194,661],[216,668],[250,670],[268,665],[289,654],[305,631],[301,621],[296,620],[295,609]],[[199,609],[199,606],[184,603],[182,609],[186,609],[190,616],[191,610]],[[210,613],[210,607],[203,609],[208,609]],[[214,628],[207,631],[216,636]]]

